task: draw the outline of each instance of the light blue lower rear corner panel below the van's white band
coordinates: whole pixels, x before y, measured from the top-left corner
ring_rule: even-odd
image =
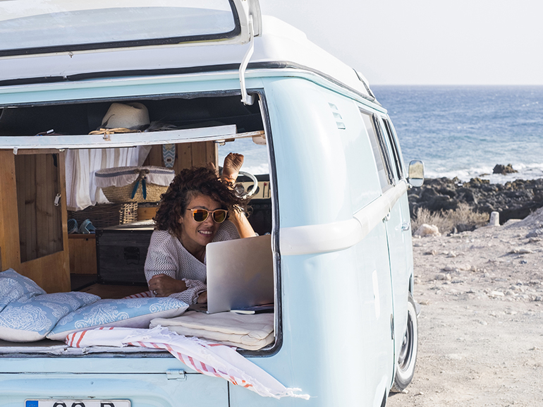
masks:
[[[283,346],[271,358],[251,360],[288,386],[303,389],[311,399],[260,399],[231,387],[232,406],[341,406],[353,401],[380,405],[393,377],[385,233],[381,224],[348,250],[281,260]],[[312,317],[307,317],[307,310]]]

